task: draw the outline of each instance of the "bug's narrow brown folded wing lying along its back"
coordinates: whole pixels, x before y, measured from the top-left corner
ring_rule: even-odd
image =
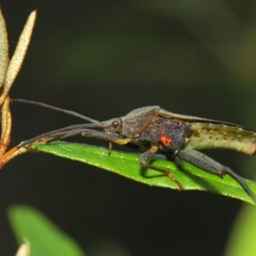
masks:
[[[163,117],[165,119],[180,119],[183,122],[189,122],[189,123],[207,123],[207,124],[217,124],[217,125],[229,125],[229,126],[243,128],[241,125],[236,125],[236,124],[232,124],[229,122],[223,122],[223,121],[218,121],[218,120],[213,120],[213,119],[202,119],[202,118],[199,118],[196,116],[172,113],[172,112],[166,111],[163,108],[160,108],[160,110],[158,111],[158,114],[160,115],[160,117]],[[249,130],[246,128],[243,128],[243,129]]]

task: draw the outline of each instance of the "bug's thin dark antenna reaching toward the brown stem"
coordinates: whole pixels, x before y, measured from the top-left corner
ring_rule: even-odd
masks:
[[[39,107],[49,108],[49,109],[52,109],[52,110],[55,110],[55,111],[59,111],[59,112],[62,112],[62,113],[71,114],[71,115],[73,115],[75,117],[78,117],[79,119],[87,120],[90,123],[98,123],[99,122],[99,121],[97,121],[95,119],[90,119],[89,117],[87,117],[87,116],[85,116],[85,115],[83,115],[81,113],[76,113],[76,112],[74,112],[72,110],[67,110],[67,109],[63,109],[63,108],[57,108],[55,106],[44,104],[42,102],[32,102],[32,101],[27,101],[27,100],[22,100],[22,99],[9,99],[9,102],[10,103],[26,103],[26,104],[37,105]]]

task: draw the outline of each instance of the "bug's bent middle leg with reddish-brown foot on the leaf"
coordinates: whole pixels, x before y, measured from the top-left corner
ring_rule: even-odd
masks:
[[[170,177],[171,180],[172,180],[174,183],[177,183],[178,190],[182,190],[182,189],[183,189],[183,185],[177,181],[177,178],[174,177],[170,171],[167,171],[167,170],[165,170],[165,169],[161,169],[161,168],[156,167],[156,166],[151,166],[151,165],[148,164],[149,158],[150,158],[151,156],[153,156],[153,155],[156,153],[156,151],[157,151],[158,149],[159,149],[158,146],[152,145],[151,148],[150,148],[148,151],[146,151],[145,153],[143,153],[143,154],[141,155],[140,164],[141,164],[143,167],[145,167],[145,168],[152,169],[152,170],[154,170],[154,171],[158,171],[158,172],[164,173],[167,177]]]

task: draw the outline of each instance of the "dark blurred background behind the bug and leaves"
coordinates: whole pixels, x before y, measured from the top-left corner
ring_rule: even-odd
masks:
[[[0,3],[10,55],[27,16],[38,10],[13,98],[99,120],[160,105],[256,128],[254,1]],[[11,110],[10,147],[81,123],[36,106]],[[70,141],[108,147],[83,137]],[[221,150],[208,154],[253,178],[255,159]],[[17,247],[6,215],[16,203],[37,207],[96,256],[221,255],[242,205],[205,192],[150,188],[53,155],[24,154],[0,172],[2,255],[14,255]]]

